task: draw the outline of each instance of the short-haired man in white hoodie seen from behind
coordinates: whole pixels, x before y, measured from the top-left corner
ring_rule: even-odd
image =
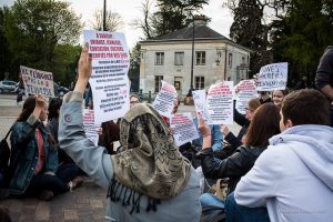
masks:
[[[238,183],[234,195],[228,196],[226,221],[252,221],[264,214],[255,209],[265,206],[272,222],[332,220],[333,128],[327,125],[329,105],[313,89],[284,98],[282,133],[270,139],[269,148]]]

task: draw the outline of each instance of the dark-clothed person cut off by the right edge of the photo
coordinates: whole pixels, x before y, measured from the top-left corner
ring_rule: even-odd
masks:
[[[316,69],[315,85],[331,102],[330,125],[333,128],[333,46],[327,47],[321,58]]]

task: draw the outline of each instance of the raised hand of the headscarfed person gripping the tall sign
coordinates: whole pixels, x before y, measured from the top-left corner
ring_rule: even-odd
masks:
[[[82,94],[84,93],[85,85],[92,72],[92,58],[88,53],[88,50],[89,44],[85,43],[78,62],[78,81],[74,88],[74,91],[81,92]]]

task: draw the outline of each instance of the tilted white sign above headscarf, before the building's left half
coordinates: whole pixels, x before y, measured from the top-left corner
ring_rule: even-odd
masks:
[[[169,118],[173,110],[175,99],[176,99],[175,88],[172,84],[162,81],[162,87],[153,102],[153,108],[161,115]]]

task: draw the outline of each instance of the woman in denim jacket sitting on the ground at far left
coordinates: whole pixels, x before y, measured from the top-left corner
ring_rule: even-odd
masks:
[[[43,95],[31,95],[23,104],[21,114],[10,135],[10,194],[39,194],[49,201],[54,194],[70,190],[70,169],[58,168],[57,143],[43,125],[48,118]],[[18,160],[18,161],[17,161]]]

